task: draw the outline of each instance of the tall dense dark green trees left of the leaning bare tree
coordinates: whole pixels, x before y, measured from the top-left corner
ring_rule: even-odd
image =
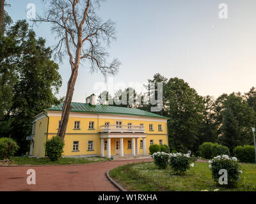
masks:
[[[0,138],[17,141],[17,154],[28,151],[33,117],[60,103],[59,66],[43,38],[36,38],[26,20],[12,24],[8,17],[0,41]],[[8,25],[8,26],[7,26]]]

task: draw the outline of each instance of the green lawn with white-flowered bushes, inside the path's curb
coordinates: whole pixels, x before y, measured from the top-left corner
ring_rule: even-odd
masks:
[[[256,191],[256,165],[242,165],[241,181],[227,189],[213,182],[208,163],[195,162],[185,175],[173,175],[172,170],[159,170],[154,163],[119,166],[109,175],[128,191]]]

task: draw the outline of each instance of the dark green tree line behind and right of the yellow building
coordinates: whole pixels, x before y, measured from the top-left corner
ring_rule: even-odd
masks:
[[[163,82],[163,109],[155,113],[169,118],[168,138],[171,150],[191,150],[195,153],[202,143],[217,142],[227,146],[232,153],[238,145],[253,144],[251,128],[255,126],[256,119],[255,87],[244,94],[233,92],[214,99],[212,96],[200,96],[188,83],[177,77],[168,79],[156,73],[152,79],[148,79],[148,85],[150,82]],[[119,90],[114,95],[121,99],[122,94],[126,94],[128,101],[128,89]],[[132,90],[133,104],[120,105],[114,101],[113,105],[150,112],[152,105],[138,105],[135,96],[141,93]],[[106,98],[103,97],[105,95]],[[98,102],[102,103],[109,98],[112,96],[104,91]]]

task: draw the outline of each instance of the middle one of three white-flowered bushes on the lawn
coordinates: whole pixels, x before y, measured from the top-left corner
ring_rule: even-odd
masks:
[[[190,166],[193,167],[194,164],[190,165],[189,154],[182,153],[171,153],[170,154],[170,166],[175,174],[182,174],[189,170]]]

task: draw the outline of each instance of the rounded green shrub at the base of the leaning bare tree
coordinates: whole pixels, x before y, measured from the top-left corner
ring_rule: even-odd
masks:
[[[53,136],[51,140],[45,143],[45,156],[49,157],[51,161],[56,161],[60,159],[63,151],[64,142],[61,140],[60,136]]]

